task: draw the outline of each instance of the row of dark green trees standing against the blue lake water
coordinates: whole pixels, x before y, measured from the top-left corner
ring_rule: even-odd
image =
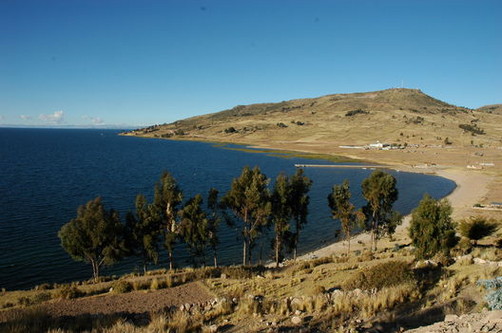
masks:
[[[94,278],[99,276],[100,267],[125,256],[139,258],[146,272],[149,264],[158,263],[162,246],[172,269],[174,248],[179,243],[185,244],[194,266],[206,264],[208,250],[217,266],[221,221],[240,231],[243,265],[252,263],[252,250],[263,228],[272,227],[273,257],[279,265],[286,251],[296,258],[300,233],[307,223],[312,181],[297,169],[292,176],[279,174],[271,189],[269,182],[258,167],[245,167],[221,198],[218,190],[210,189],[204,205],[200,194],[183,203],[176,180],[164,172],[155,185],[153,201],[137,195],[135,210],[127,213],[125,223],[115,210],[105,209],[98,197],[79,207],[76,218],[63,225],[58,236],[75,260],[91,264]],[[349,252],[354,228],[371,231],[372,248],[376,249],[377,240],[392,234],[401,221],[401,215],[393,210],[398,192],[392,175],[374,171],[361,188],[367,204],[359,210],[350,202],[348,181],[335,185],[328,195],[333,218],[341,222],[349,240]]]

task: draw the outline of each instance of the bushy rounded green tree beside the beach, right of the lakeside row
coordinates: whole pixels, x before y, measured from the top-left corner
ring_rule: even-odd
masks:
[[[412,212],[408,229],[417,258],[429,259],[438,252],[448,255],[456,245],[458,239],[451,212],[446,199],[436,200],[428,194],[424,195]]]

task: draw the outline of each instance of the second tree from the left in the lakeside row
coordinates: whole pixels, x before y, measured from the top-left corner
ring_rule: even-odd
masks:
[[[126,215],[126,244],[131,255],[141,259],[143,272],[159,260],[160,211],[142,194],[136,196],[136,211]]]

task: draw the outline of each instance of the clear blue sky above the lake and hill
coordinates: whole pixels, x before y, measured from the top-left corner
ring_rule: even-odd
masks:
[[[0,125],[141,126],[419,88],[502,103],[499,0],[1,0]]]

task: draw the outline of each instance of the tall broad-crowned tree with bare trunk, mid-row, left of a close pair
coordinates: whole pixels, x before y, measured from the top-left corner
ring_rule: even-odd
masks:
[[[230,190],[222,198],[225,208],[232,210],[242,222],[242,264],[251,262],[251,247],[266,225],[270,214],[268,178],[259,167],[244,167],[241,175],[234,178]]]

